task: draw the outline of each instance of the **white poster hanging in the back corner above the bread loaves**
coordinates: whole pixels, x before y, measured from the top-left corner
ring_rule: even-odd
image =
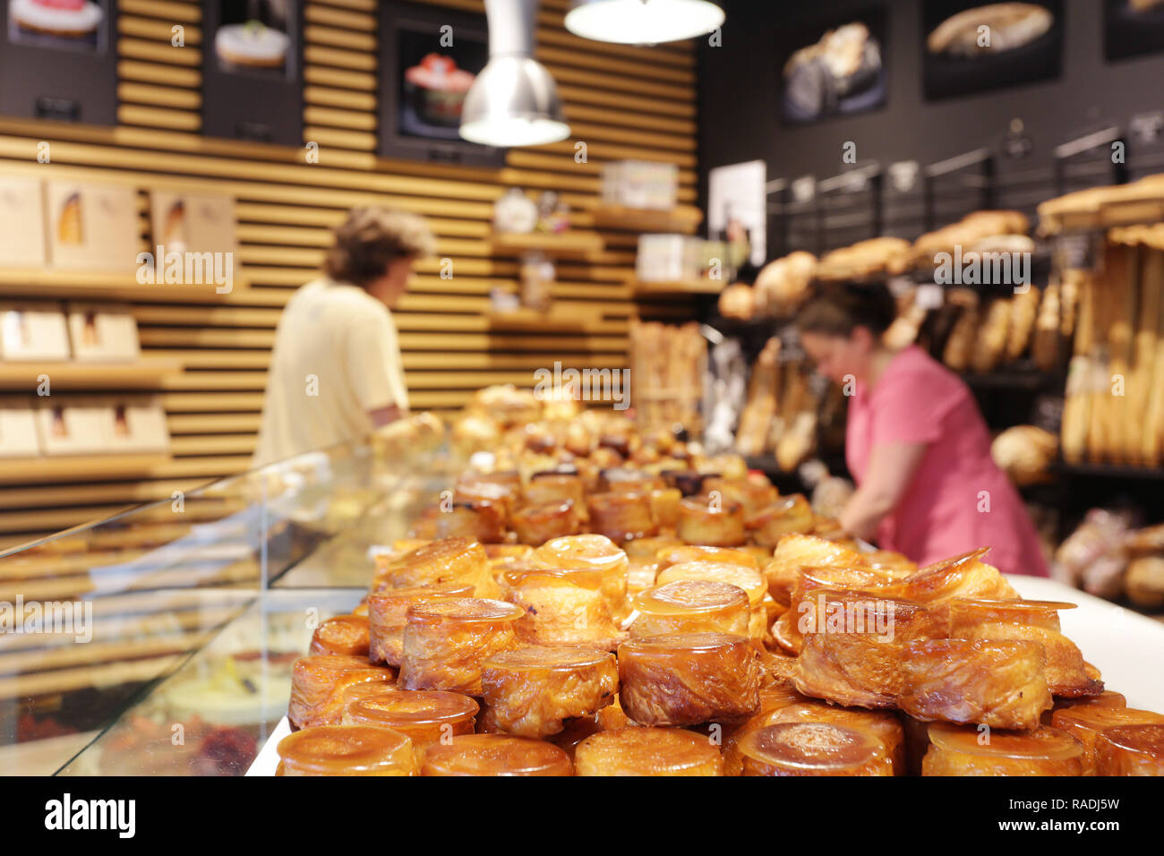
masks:
[[[708,172],[708,229],[715,239],[746,247],[746,261],[759,267],[767,257],[767,197],[764,161],[716,167]]]

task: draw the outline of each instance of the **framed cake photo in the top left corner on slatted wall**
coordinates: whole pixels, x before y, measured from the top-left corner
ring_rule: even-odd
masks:
[[[0,113],[114,125],[115,0],[0,0]]]

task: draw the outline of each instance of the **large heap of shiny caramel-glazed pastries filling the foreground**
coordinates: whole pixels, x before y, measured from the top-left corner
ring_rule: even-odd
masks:
[[[468,473],[379,554],[294,665],[279,774],[1164,773],[1164,715],[985,549],[918,568],[623,439],[592,481]]]

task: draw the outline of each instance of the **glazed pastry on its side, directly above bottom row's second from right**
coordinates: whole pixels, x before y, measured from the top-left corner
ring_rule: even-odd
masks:
[[[1034,730],[1053,703],[1036,642],[917,639],[904,648],[897,707],[915,719]]]

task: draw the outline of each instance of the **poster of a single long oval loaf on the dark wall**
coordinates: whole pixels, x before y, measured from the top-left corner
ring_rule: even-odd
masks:
[[[922,87],[937,100],[1059,77],[1063,0],[924,0]]]

